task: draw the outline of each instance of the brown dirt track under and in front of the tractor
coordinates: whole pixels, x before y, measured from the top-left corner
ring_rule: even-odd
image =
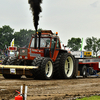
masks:
[[[0,76],[0,100],[14,100],[20,86],[28,86],[27,100],[71,100],[77,97],[100,94],[100,78],[78,78],[69,80],[20,80],[4,79]]]

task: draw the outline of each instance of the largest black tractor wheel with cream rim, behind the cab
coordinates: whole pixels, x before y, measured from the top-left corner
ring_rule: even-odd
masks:
[[[54,76],[60,79],[69,79],[73,78],[74,76],[74,70],[75,70],[75,59],[74,57],[69,53],[62,53],[59,60],[59,66],[57,65],[57,69],[55,72],[57,72],[58,75]],[[55,73],[54,72],[54,73]]]

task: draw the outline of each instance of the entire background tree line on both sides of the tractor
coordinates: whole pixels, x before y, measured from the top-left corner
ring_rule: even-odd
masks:
[[[42,29],[38,29],[40,31]],[[0,50],[4,50],[5,46],[10,46],[11,40],[15,39],[15,46],[28,47],[31,35],[35,34],[35,30],[20,29],[19,32],[14,32],[9,25],[0,27]],[[79,51],[82,45],[81,38],[68,39],[66,47],[71,51]],[[86,45],[83,47],[86,51],[93,51],[93,54],[97,56],[100,50],[100,39],[96,37],[87,37]]]

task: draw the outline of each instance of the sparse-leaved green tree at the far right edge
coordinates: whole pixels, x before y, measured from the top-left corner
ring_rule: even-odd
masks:
[[[87,51],[93,51],[93,55],[96,55],[97,57],[98,51],[100,50],[100,39],[97,39],[95,37],[87,38],[84,49]]]

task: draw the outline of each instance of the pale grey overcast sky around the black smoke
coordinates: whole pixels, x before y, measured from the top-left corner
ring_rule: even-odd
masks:
[[[64,44],[72,37],[100,38],[99,0],[43,0],[41,7],[38,27],[58,32]],[[28,0],[0,0],[0,27],[35,30],[29,8]]]

